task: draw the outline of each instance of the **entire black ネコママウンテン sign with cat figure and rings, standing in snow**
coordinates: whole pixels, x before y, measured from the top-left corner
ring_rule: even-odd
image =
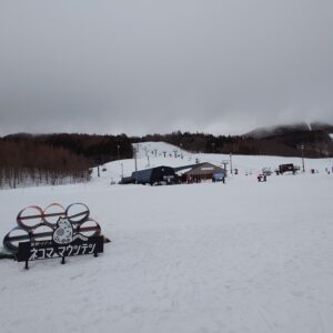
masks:
[[[97,221],[89,216],[83,203],[64,209],[52,203],[42,210],[28,206],[17,218],[18,226],[3,239],[7,250],[16,254],[19,262],[91,254],[103,252],[104,238]]]

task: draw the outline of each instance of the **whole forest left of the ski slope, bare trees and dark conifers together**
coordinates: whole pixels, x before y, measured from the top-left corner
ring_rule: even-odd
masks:
[[[125,135],[12,134],[0,138],[0,188],[88,181],[90,168],[131,157]]]

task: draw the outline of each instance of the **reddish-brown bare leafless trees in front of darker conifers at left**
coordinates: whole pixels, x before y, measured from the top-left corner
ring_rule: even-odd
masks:
[[[63,148],[0,140],[0,188],[88,181],[88,160]]]

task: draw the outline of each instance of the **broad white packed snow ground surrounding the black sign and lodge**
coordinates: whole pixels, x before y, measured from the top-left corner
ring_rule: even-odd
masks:
[[[110,185],[131,160],[88,184],[0,191],[2,235],[21,208],[84,202],[112,240],[65,265],[0,261],[1,332],[332,332],[333,160],[263,183],[281,158],[233,160],[225,184]]]

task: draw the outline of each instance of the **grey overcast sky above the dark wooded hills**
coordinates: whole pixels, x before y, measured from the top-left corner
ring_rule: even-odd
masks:
[[[333,123],[332,0],[1,0],[0,135]]]

